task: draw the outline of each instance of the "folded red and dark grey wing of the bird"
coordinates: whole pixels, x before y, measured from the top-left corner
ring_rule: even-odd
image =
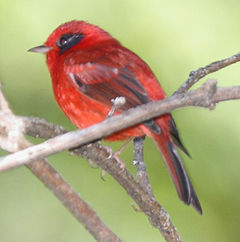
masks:
[[[116,97],[125,98],[125,104],[119,107],[119,111],[150,102],[137,76],[127,66],[87,62],[66,65],[65,73],[79,92],[109,108],[112,107],[112,100]],[[153,120],[144,124],[153,132],[160,132],[160,128]]]

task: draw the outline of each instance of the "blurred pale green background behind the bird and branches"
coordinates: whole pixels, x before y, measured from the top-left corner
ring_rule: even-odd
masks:
[[[74,129],[57,107],[44,56],[26,50],[42,44],[59,24],[81,19],[97,24],[140,55],[167,94],[191,70],[240,50],[240,2],[234,0],[0,1],[0,80],[14,112],[43,117]],[[209,76],[219,85],[238,85],[240,63]],[[203,82],[201,82],[203,83]],[[200,84],[198,84],[200,85]],[[183,157],[204,214],[181,203],[153,142],[145,159],[158,201],[183,241],[239,241],[240,104],[214,111],[174,111],[192,159]],[[39,142],[39,141],[36,141]],[[117,149],[121,144],[110,144]],[[5,154],[2,152],[2,154]],[[134,173],[132,146],[122,159]],[[131,207],[133,201],[109,176],[67,153],[49,158],[54,167],[124,241],[163,241]],[[0,241],[94,241],[60,202],[25,167],[0,174]]]

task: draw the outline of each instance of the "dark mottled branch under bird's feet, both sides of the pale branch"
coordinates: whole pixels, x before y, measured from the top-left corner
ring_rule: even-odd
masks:
[[[56,126],[55,129],[52,124],[47,123],[43,119],[27,117],[23,117],[22,119],[26,124],[25,132],[30,136],[50,138],[66,132],[59,126]],[[44,130],[44,132],[42,132],[42,130]],[[49,130],[49,132],[45,132],[45,130]],[[47,135],[47,137],[45,135]],[[138,204],[140,210],[148,216],[152,225],[159,229],[166,241],[181,241],[168,213],[155,200],[153,195],[149,196],[149,191],[151,191],[149,187],[148,190],[144,188],[144,186],[146,186],[145,180],[144,182],[137,182],[131,173],[123,167],[114,156],[111,156],[108,147],[104,147],[99,143],[93,143],[73,149],[71,150],[71,154],[80,155],[95,162],[99,167],[112,175]]]

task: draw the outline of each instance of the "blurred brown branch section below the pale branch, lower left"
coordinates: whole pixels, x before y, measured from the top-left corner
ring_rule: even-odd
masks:
[[[37,160],[26,166],[55,194],[63,205],[97,241],[121,241],[103,223],[90,205],[73,190],[73,188],[46,160]]]

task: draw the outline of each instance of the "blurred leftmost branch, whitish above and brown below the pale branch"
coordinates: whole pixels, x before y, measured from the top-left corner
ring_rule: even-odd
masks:
[[[29,147],[31,144],[24,138],[25,122],[20,117],[15,116],[0,90],[0,146],[9,152],[16,152]],[[43,122],[42,122],[43,123]],[[45,123],[46,124],[46,123]],[[28,126],[30,127],[30,126]],[[31,131],[35,130],[32,126]],[[43,126],[42,126],[43,127]],[[51,130],[53,125],[45,125]],[[55,131],[62,131],[59,126],[54,127]],[[42,129],[42,134],[47,134],[46,129]],[[55,196],[64,204],[72,215],[84,225],[84,227],[98,241],[121,240],[101,221],[96,212],[77,194],[62,176],[45,160],[35,160],[27,164],[32,173],[50,189]]]

